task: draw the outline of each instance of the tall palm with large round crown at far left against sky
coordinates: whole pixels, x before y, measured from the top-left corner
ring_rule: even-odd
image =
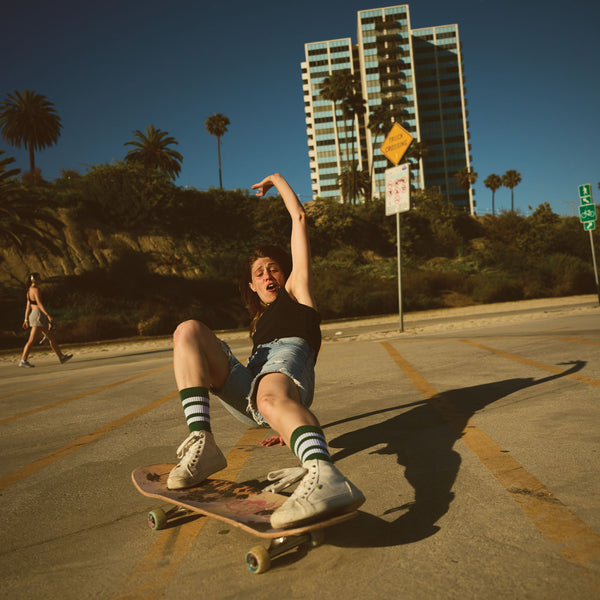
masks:
[[[23,90],[7,94],[0,104],[0,130],[11,146],[29,151],[29,171],[34,174],[34,152],[56,144],[60,137],[60,117],[46,96]]]

